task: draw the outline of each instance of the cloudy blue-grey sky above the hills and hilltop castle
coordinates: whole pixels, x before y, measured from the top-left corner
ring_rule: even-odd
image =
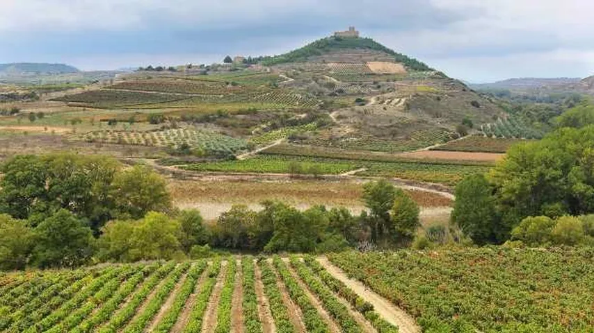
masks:
[[[349,25],[470,82],[594,74],[592,0],[0,0],[0,62],[80,69],[289,51]]]

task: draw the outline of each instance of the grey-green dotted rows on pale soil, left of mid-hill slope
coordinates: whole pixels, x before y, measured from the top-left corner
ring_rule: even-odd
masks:
[[[82,138],[87,142],[108,144],[131,144],[175,149],[188,146],[193,153],[198,155],[230,155],[248,149],[248,143],[243,139],[235,139],[227,135],[194,128],[148,132],[99,130],[87,133]]]

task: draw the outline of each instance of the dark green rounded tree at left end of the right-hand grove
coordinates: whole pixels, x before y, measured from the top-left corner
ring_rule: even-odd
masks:
[[[481,174],[458,183],[451,219],[476,244],[498,243],[507,238],[508,230],[498,223],[492,188]]]

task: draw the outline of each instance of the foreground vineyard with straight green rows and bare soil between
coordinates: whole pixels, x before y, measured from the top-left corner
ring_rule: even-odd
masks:
[[[10,273],[0,291],[2,332],[399,332],[312,257]]]

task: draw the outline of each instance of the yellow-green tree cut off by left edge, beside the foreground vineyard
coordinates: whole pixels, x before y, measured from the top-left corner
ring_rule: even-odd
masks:
[[[24,269],[32,246],[33,230],[26,221],[0,214],[0,270]]]

